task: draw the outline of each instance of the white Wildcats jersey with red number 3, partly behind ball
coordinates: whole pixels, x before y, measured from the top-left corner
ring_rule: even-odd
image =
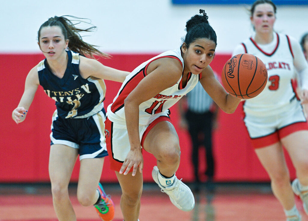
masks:
[[[245,53],[253,54],[263,61],[268,72],[265,89],[245,101],[244,110],[251,114],[275,114],[288,108],[295,93],[291,85],[294,77],[293,52],[287,35],[274,33],[268,45],[258,45],[253,38],[242,43]]]

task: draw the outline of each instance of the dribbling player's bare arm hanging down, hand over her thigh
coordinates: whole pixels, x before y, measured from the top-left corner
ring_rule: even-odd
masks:
[[[123,173],[126,168],[124,172],[124,175],[126,175],[133,167],[132,176],[135,176],[139,164],[140,172],[143,169],[139,134],[139,105],[174,85],[181,75],[182,66],[179,61],[174,58],[157,59],[148,66],[147,76],[139,82],[125,99],[125,119],[131,150],[120,169],[120,173]]]

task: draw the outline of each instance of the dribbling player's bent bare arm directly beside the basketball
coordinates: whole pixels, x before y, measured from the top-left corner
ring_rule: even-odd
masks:
[[[227,93],[221,83],[215,78],[210,66],[202,72],[200,83],[213,101],[226,113],[233,113],[241,99]]]

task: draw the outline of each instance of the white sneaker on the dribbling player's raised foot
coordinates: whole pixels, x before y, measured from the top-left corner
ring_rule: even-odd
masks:
[[[192,191],[181,180],[174,178],[172,186],[163,187],[158,181],[159,170],[154,166],[152,170],[152,177],[156,184],[161,188],[162,192],[169,195],[171,202],[183,211],[190,211],[195,206],[195,198]]]

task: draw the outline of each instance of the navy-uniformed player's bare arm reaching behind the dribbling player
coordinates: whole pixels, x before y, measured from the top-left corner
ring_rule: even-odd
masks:
[[[93,76],[104,80],[118,81],[123,83],[125,77],[130,74],[130,72],[127,71],[121,71],[107,67],[95,59],[83,56],[80,56],[79,59],[79,71],[81,76],[85,79]]]

